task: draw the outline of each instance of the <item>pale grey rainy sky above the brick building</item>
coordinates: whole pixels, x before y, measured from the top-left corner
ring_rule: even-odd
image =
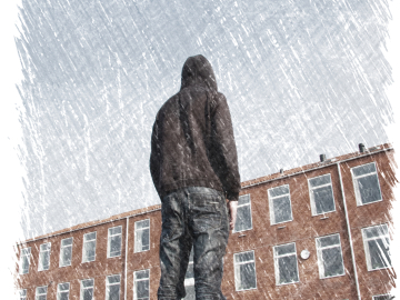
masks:
[[[386,1],[26,0],[17,48],[27,238],[159,203],[151,127],[202,53],[242,180],[388,142]]]

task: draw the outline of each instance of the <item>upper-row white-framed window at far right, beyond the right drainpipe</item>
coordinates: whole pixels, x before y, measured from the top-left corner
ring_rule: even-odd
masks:
[[[351,174],[358,206],[382,201],[374,162],[351,168]]]

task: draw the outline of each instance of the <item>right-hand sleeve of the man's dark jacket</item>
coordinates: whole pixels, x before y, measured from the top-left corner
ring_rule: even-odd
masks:
[[[237,201],[240,191],[240,174],[232,120],[226,97],[218,93],[216,98],[216,107],[210,116],[211,163],[223,186],[227,198]]]

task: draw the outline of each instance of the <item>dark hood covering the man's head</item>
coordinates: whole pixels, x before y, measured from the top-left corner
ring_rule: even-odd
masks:
[[[217,91],[217,80],[211,63],[203,56],[189,57],[182,68],[181,90],[189,86],[203,86]]]

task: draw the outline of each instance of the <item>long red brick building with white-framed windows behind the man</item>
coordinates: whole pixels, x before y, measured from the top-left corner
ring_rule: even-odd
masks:
[[[242,182],[227,299],[390,299],[389,144]],[[20,299],[157,299],[161,206],[18,244]],[[186,286],[193,298],[192,263]]]

